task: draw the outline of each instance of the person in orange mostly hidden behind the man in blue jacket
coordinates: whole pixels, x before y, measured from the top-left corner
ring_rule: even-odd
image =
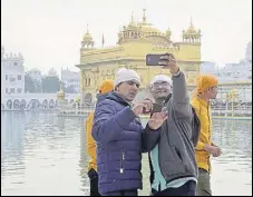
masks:
[[[105,80],[99,87],[99,95],[97,101],[99,102],[105,98],[106,93],[114,90],[114,81]],[[90,183],[90,196],[100,196],[98,193],[98,175],[97,175],[97,162],[96,162],[96,149],[97,145],[91,136],[94,125],[94,111],[91,111],[86,118],[85,131],[86,131],[86,147],[90,157],[88,164],[88,177]]]

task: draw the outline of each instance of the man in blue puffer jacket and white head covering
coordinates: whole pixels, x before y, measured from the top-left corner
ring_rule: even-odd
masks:
[[[142,152],[153,147],[165,111],[155,112],[144,129],[139,115],[150,111],[153,102],[134,104],[140,78],[135,70],[121,68],[114,81],[114,91],[98,102],[93,137],[97,141],[98,188],[103,196],[137,196],[143,188]]]

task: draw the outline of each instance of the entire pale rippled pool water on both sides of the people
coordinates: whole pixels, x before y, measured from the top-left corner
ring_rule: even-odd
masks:
[[[2,195],[88,195],[84,119],[46,112],[1,112]],[[213,159],[214,195],[252,194],[252,122],[213,121],[213,140],[223,149]],[[149,167],[143,160],[144,190]]]

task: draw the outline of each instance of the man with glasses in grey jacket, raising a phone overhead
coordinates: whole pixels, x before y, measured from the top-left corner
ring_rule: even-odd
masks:
[[[149,152],[152,196],[195,196],[200,120],[189,104],[185,75],[174,56],[163,57],[162,65],[173,77],[158,75],[150,82],[155,102],[160,104],[169,117]]]

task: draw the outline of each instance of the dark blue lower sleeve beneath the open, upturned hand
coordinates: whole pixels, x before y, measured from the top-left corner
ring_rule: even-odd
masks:
[[[148,152],[152,151],[153,148],[157,145],[159,140],[162,128],[157,130],[152,130],[148,125],[144,129],[144,132],[142,134],[142,151]]]

